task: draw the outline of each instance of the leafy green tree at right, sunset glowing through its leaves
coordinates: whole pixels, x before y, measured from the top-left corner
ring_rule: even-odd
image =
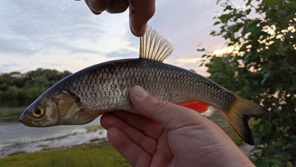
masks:
[[[260,167],[296,166],[296,1],[244,0],[237,8],[218,0],[223,8],[214,17],[231,53],[206,52],[202,65],[210,79],[240,96],[268,108],[272,116],[258,119],[250,157]],[[205,51],[205,49],[198,49]]]

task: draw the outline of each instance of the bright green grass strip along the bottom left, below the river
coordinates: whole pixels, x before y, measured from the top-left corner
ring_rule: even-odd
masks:
[[[0,159],[1,167],[130,167],[116,150],[92,145],[79,149],[50,150]]]

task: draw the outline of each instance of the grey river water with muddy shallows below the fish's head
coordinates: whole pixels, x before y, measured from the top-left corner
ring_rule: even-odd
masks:
[[[106,139],[100,117],[86,125],[62,125],[32,128],[18,122],[24,108],[0,108],[0,158],[16,152],[72,147]],[[96,126],[94,126],[96,125]],[[87,128],[92,126],[93,131]]]

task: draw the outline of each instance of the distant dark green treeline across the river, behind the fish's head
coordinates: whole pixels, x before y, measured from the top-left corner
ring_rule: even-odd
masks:
[[[51,69],[0,74],[0,107],[27,106],[70,74]]]

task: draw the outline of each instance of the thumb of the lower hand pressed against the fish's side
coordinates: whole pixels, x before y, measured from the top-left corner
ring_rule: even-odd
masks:
[[[196,111],[156,98],[138,85],[131,89],[130,98],[140,114],[168,130],[197,125],[206,120]]]

